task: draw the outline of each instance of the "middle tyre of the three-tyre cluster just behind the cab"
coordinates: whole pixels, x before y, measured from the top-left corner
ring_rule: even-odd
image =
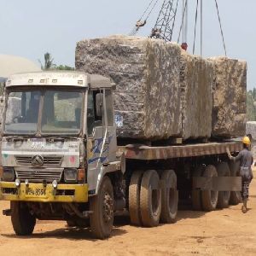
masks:
[[[140,208],[144,226],[154,227],[159,224],[161,213],[160,178],[154,170],[143,174]]]

